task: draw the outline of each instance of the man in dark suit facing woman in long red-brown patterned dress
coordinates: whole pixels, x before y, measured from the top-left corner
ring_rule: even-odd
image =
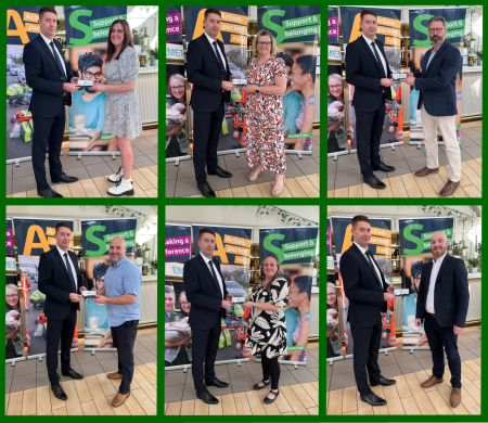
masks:
[[[220,31],[220,11],[209,8],[204,14],[205,33],[188,46],[187,75],[193,84],[191,105],[193,108],[193,165],[196,187],[203,196],[216,194],[207,182],[207,174],[230,178],[232,174],[219,167],[217,146],[222,129],[223,102],[229,99],[229,90],[235,88],[231,80],[223,43],[217,40]]]

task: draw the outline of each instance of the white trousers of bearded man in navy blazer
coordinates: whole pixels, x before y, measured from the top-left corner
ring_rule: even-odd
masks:
[[[437,144],[437,128],[439,128],[449,163],[449,179],[452,182],[459,182],[461,179],[461,150],[455,134],[455,115],[431,116],[424,104],[422,104],[421,114],[427,167],[429,169],[439,167],[439,148]]]

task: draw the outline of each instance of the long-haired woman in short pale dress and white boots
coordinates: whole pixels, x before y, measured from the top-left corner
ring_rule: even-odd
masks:
[[[103,132],[115,137],[120,150],[121,166],[110,182],[117,183],[108,189],[113,196],[133,195],[133,154],[130,141],[142,133],[141,111],[139,108],[136,81],[139,76],[139,56],[133,49],[129,23],[115,20],[108,30],[106,65],[102,84],[94,84],[94,91],[106,91],[105,123]]]

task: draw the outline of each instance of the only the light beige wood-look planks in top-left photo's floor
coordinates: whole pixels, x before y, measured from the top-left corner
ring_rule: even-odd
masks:
[[[106,178],[110,175],[84,179],[74,183],[60,183],[52,188],[65,197],[111,197],[107,190],[114,187]],[[157,197],[157,166],[144,167],[142,169],[132,169],[134,197]],[[37,190],[17,192],[7,195],[8,197],[39,197]]]

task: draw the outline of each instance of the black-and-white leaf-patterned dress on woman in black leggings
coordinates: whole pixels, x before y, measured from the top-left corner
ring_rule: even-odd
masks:
[[[246,347],[251,354],[266,354],[268,358],[286,355],[286,322],[284,307],[288,302],[288,284],[284,278],[270,282],[270,292],[256,284],[249,295],[253,303],[268,303],[280,307],[277,311],[251,309],[249,326],[247,329]]]

